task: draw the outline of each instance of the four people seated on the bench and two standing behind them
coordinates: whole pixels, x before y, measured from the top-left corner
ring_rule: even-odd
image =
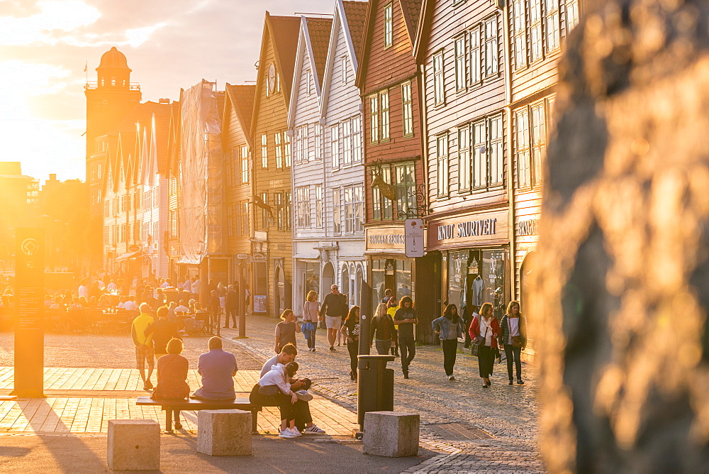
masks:
[[[147,303],[140,304],[140,314],[133,319],[130,334],[135,346],[135,358],[144,390],[152,390],[152,398],[179,400],[188,397],[208,400],[235,399],[234,377],[238,363],[235,355],[224,351],[222,340],[211,337],[208,351],[199,355],[197,372],[201,387],[190,395],[187,384],[189,360],[183,355],[184,345],[179,338],[177,325],[170,322],[167,307],[157,309],[157,320],[151,315]],[[313,424],[308,402],[311,380],[296,377],[298,351],[292,343],[279,346],[277,355],[268,360],[259,381],[250,393],[250,402],[260,407],[278,407],[281,416],[279,436],[296,438],[307,434],[324,434]],[[157,360],[157,385],[152,385],[152,374]],[[146,370],[147,369],[147,370]],[[175,427],[181,428],[179,417]]]

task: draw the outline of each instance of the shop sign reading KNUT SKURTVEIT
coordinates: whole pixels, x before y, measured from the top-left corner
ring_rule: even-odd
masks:
[[[433,221],[428,226],[429,248],[451,244],[503,241],[508,238],[506,211],[490,211]]]

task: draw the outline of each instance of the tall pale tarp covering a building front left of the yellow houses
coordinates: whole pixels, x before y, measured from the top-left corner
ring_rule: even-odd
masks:
[[[202,79],[182,92],[180,263],[223,252],[223,151],[215,84]]]

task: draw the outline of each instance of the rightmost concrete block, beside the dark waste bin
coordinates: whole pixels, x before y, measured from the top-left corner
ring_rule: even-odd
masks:
[[[416,456],[420,422],[420,416],[413,413],[365,413],[363,452],[388,458]]]

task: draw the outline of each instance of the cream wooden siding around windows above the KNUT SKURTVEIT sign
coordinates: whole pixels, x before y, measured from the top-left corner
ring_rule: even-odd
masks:
[[[496,187],[474,190],[473,192],[458,191],[459,180],[459,148],[457,128],[472,123],[479,118],[502,114],[506,104],[504,57],[503,16],[487,2],[467,1],[453,7],[449,0],[437,0],[432,6],[430,31],[426,42],[425,54],[425,101],[428,147],[428,197],[435,212],[445,212],[459,209],[461,206],[490,206],[496,203],[506,204],[506,180],[508,180],[508,156],[510,155],[507,140],[509,131],[508,117],[503,115],[503,184]],[[498,74],[483,79],[480,84],[470,84],[470,43],[469,32],[476,27],[484,27],[482,22],[492,16],[498,20]],[[454,38],[465,35],[466,80],[468,86],[462,91],[456,91]],[[481,51],[484,51],[481,45]],[[443,78],[445,102],[435,104],[433,92],[433,55],[443,52]],[[444,184],[447,197],[438,197],[440,184],[437,182],[437,136],[448,132],[448,182]],[[462,210],[464,211],[464,209]]]

